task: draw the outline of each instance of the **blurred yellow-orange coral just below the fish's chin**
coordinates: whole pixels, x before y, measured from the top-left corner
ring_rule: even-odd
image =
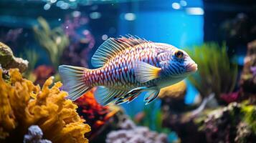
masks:
[[[186,94],[186,83],[184,81],[161,89],[158,97],[160,99],[183,99]]]

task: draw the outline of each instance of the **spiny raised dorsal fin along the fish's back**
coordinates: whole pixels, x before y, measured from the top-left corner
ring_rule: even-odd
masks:
[[[131,35],[121,36],[118,39],[109,38],[99,46],[97,51],[95,51],[92,58],[92,64],[95,67],[103,66],[113,56],[119,54],[120,51],[146,42],[149,41],[146,41],[146,39],[141,39],[138,36]]]

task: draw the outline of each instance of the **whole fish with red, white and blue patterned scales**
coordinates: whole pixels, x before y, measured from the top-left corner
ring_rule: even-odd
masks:
[[[123,104],[144,95],[151,103],[160,89],[193,74],[197,64],[189,54],[171,44],[126,35],[105,40],[91,59],[95,69],[60,65],[67,99],[78,99],[93,87],[99,104]]]

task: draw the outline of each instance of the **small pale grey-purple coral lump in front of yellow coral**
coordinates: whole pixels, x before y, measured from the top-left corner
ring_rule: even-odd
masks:
[[[24,143],[52,143],[47,139],[42,139],[43,132],[37,125],[29,127],[28,134],[24,135]]]

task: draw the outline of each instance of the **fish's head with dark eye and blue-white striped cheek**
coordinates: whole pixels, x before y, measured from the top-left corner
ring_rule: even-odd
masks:
[[[169,77],[187,77],[197,71],[197,64],[184,50],[172,46],[160,56],[165,56],[158,59],[161,69],[163,69],[163,74]]]

